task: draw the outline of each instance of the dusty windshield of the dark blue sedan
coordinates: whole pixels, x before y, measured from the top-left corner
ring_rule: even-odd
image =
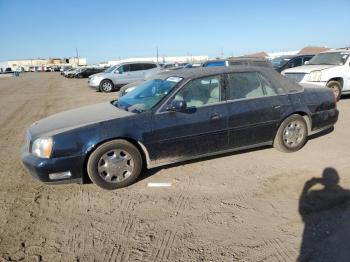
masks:
[[[126,95],[113,102],[118,108],[134,113],[152,109],[182,80],[181,77],[152,79],[140,83]]]

